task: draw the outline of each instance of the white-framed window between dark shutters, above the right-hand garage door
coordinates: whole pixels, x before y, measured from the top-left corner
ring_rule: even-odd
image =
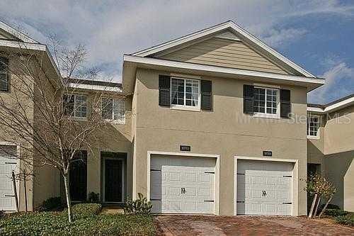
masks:
[[[253,112],[256,116],[279,117],[279,89],[254,87]]]

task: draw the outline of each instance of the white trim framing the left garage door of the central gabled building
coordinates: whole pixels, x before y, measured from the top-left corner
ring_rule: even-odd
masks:
[[[215,198],[214,198],[214,214],[219,215],[220,208],[220,155],[219,154],[200,154],[200,153],[189,153],[189,152],[156,152],[147,151],[147,199],[150,199],[150,166],[151,158],[153,154],[169,155],[169,156],[180,156],[180,157],[210,157],[215,158]]]

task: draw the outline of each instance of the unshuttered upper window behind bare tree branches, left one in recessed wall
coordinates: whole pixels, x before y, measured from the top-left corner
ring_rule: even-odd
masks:
[[[64,96],[64,113],[76,118],[87,117],[87,96],[71,94]]]

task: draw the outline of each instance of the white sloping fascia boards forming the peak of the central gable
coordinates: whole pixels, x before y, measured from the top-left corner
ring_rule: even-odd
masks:
[[[265,43],[263,43],[261,40],[259,40],[258,38],[256,38],[255,36],[251,35],[251,33],[247,32],[246,30],[244,30],[244,28],[241,28],[240,26],[236,25],[236,23],[232,22],[232,21],[227,21],[225,23],[221,23],[217,26],[213,26],[211,28],[207,28],[205,30],[200,30],[196,33],[192,33],[190,35],[185,35],[182,38],[177,38],[176,40],[171,40],[167,43],[163,43],[161,45],[156,45],[155,47],[150,47],[147,50],[142,50],[139,52],[135,52],[132,55],[133,56],[139,56],[139,57],[146,57],[147,55],[152,55],[156,52],[161,52],[163,50],[167,50],[171,47],[176,47],[178,45],[181,45],[183,43],[188,43],[192,40],[196,40],[198,38],[202,38],[206,35],[210,35],[212,33],[216,33],[225,29],[231,29],[234,30],[235,33],[239,33],[242,36],[244,36],[244,38],[246,38],[246,40],[250,40],[252,43],[255,43],[258,47],[261,47],[263,50],[265,50],[266,52],[269,52],[270,55],[273,55],[273,57],[277,58],[278,60],[284,62],[285,64],[287,64],[289,67],[292,67],[293,69],[295,69],[297,72],[304,74],[305,77],[313,77],[316,78],[313,74],[311,74],[310,72],[307,72],[307,70],[303,69],[302,67],[300,67],[299,65],[295,64],[295,62],[292,62],[291,60],[287,59],[287,57],[284,57],[283,55],[281,55],[279,52],[277,52],[276,50],[273,50],[272,47],[269,47],[268,45],[266,45]]]

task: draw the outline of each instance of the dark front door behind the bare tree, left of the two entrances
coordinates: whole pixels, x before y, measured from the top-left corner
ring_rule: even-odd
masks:
[[[69,187],[72,201],[86,201],[87,195],[87,152],[77,154],[69,172]]]

